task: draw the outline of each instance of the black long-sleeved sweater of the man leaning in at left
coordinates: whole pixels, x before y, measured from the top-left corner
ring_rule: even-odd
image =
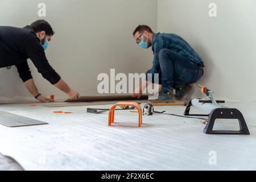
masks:
[[[27,59],[31,59],[38,72],[51,84],[60,81],[60,76],[49,65],[32,27],[0,26],[0,68],[15,65],[23,82],[32,78]]]

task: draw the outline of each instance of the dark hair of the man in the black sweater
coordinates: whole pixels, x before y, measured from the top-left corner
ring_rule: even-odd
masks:
[[[43,20],[43,19],[36,20],[30,26],[34,28],[34,31],[36,33],[40,31],[45,31],[46,35],[49,35],[49,36],[55,34],[55,32],[52,30],[51,25],[46,20]]]

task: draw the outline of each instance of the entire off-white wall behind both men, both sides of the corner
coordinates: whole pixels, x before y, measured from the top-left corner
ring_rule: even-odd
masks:
[[[142,51],[131,33],[138,24],[183,36],[205,61],[200,80],[218,98],[255,101],[256,1],[254,0],[1,0],[0,25],[23,27],[38,17],[38,4],[47,5],[46,20],[56,35],[47,50],[53,68],[82,95],[97,93],[98,73],[144,72],[151,51]],[[208,15],[217,4],[217,17]],[[54,88],[30,64],[40,92],[65,94]],[[199,95],[199,92],[195,92]],[[16,97],[21,96],[21,97]],[[31,98],[16,68],[0,69],[0,100]]]

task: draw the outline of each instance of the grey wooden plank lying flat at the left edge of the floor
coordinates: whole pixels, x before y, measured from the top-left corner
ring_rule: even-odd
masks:
[[[20,115],[0,111],[0,125],[7,127],[23,127],[35,125],[47,125],[48,123],[38,121],[31,118],[26,118]]]

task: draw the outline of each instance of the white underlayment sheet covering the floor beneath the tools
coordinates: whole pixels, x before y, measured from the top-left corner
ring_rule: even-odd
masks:
[[[255,170],[256,102],[228,105],[242,111],[251,135],[207,135],[200,119],[169,115],[143,117],[138,128],[136,113],[117,111],[114,125],[108,127],[108,113],[89,114],[87,106],[0,105],[0,110],[49,123],[0,125],[0,153],[26,170]],[[183,114],[185,107],[155,109]],[[53,114],[56,110],[73,114]],[[237,129],[237,125],[221,121],[216,126]],[[209,164],[210,151],[216,152],[216,165]]]

